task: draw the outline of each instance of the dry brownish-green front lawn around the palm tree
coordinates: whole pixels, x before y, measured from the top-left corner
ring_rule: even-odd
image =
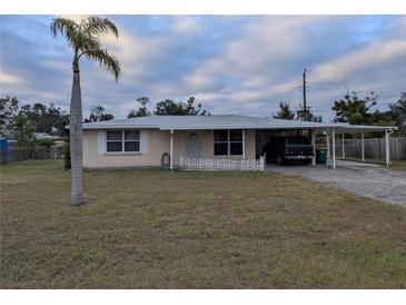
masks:
[[[270,173],[1,170],[1,288],[406,288],[406,210]]]

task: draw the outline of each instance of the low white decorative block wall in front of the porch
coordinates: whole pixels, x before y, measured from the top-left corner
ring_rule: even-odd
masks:
[[[259,159],[195,159],[180,157],[180,168],[186,170],[247,170],[263,171],[265,158]]]

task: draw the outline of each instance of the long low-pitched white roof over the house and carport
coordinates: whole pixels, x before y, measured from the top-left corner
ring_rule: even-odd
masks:
[[[353,128],[354,127],[354,128]],[[197,129],[396,129],[390,126],[351,126],[336,122],[311,122],[247,116],[148,116],[108,121],[85,122],[83,129],[157,128],[161,130]]]

